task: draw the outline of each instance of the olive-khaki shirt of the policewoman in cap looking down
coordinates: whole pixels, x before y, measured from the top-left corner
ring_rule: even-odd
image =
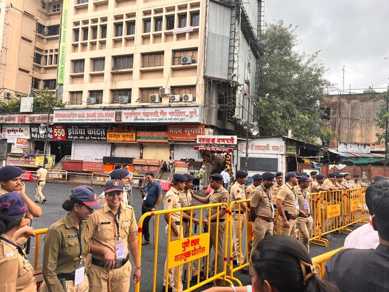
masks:
[[[86,262],[85,256],[89,254],[89,226],[85,221],[80,221],[79,227],[82,256]],[[69,215],[51,225],[47,230],[43,249],[43,277],[47,286],[53,291],[62,289],[57,274],[73,274],[80,261],[77,234],[78,230]]]

